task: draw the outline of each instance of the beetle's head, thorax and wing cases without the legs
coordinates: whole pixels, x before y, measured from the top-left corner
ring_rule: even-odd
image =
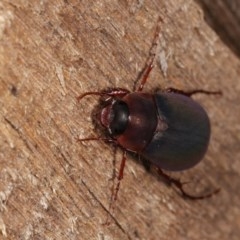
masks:
[[[196,165],[210,138],[206,111],[190,97],[169,90],[113,97],[100,122],[118,145],[169,171]]]

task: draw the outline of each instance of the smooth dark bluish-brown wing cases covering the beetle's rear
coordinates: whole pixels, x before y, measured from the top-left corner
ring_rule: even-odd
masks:
[[[167,129],[155,131],[142,155],[156,166],[185,170],[196,165],[206,153],[210,138],[210,122],[205,110],[190,97],[177,93],[154,95],[158,118]]]

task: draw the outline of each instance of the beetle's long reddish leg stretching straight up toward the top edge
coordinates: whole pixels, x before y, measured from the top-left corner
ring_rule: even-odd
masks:
[[[139,87],[137,88],[137,92],[141,92],[143,90],[144,85],[148,80],[149,74],[150,74],[151,70],[153,69],[154,60],[156,58],[157,46],[158,46],[159,38],[160,38],[162,21],[163,21],[162,18],[159,17],[158,22],[157,22],[156,32],[155,32],[153,43],[152,43],[152,47],[150,49],[150,54],[149,54],[149,57],[145,64],[144,70],[142,72],[142,80],[140,82]]]

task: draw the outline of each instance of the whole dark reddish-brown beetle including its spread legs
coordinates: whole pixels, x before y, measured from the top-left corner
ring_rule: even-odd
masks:
[[[158,24],[152,49],[157,45],[159,33]],[[128,151],[137,153],[156,166],[158,174],[175,185],[184,197],[189,199],[211,197],[220,189],[202,196],[191,195],[183,189],[184,183],[170,177],[162,169],[186,170],[202,160],[209,144],[210,121],[203,107],[191,96],[196,93],[220,95],[221,92],[202,89],[186,92],[174,88],[158,93],[142,92],[153,68],[155,55],[150,55],[136,90],[113,88],[86,92],[78,97],[79,101],[88,95],[98,95],[102,98],[104,107],[98,121],[107,130],[107,137],[89,137],[78,141],[102,140],[123,149],[118,184],[112,201],[117,199]],[[111,202],[110,208],[112,204]]]

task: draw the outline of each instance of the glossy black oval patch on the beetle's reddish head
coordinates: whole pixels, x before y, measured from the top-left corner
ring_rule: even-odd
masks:
[[[125,102],[116,101],[112,106],[110,132],[113,136],[122,134],[128,123],[129,110]]]

